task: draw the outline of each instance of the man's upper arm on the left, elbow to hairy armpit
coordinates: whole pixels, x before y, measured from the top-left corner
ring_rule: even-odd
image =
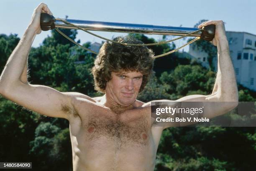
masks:
[[[4,96],[41,115],[68,120],[72,114],[72,96],[44,85],[20,83]]]

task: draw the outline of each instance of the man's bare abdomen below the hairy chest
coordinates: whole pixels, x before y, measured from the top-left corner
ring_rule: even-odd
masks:
[[[74,171],[153,171],[156,153],[152,143],[122,144],[102,137],[73,153]],[[76,167],[75,167],[76,166]]]

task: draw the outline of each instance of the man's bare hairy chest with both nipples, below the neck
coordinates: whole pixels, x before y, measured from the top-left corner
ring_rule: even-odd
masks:
[[[108,143],[119,147],[152,145],[150,111],[150,108],[141,107],[116,114],[96,105],[89,109],[81,107],[77,110],[80,120],[79,131],[76,131],[79,132],[78,143],[100,146]],[[72,135],[72,125],[70,130]]]

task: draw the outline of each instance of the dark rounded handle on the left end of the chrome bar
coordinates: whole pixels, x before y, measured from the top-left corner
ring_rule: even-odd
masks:
[[[41,13],[40,26],[42,31],[48,31],[55,28],[55,19],[53,15]]]

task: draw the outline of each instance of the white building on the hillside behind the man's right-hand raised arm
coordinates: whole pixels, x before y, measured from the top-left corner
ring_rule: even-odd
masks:
[[[244,87],[256,91],[256,35],[246,32],[226,31],[230,56],[236,72],[236,80]],[[189,54],[209,67],[207,53],[189,46]],[[217,66],[217,58],[213,60]],[[217,68],[217,67],[215,67]]]

